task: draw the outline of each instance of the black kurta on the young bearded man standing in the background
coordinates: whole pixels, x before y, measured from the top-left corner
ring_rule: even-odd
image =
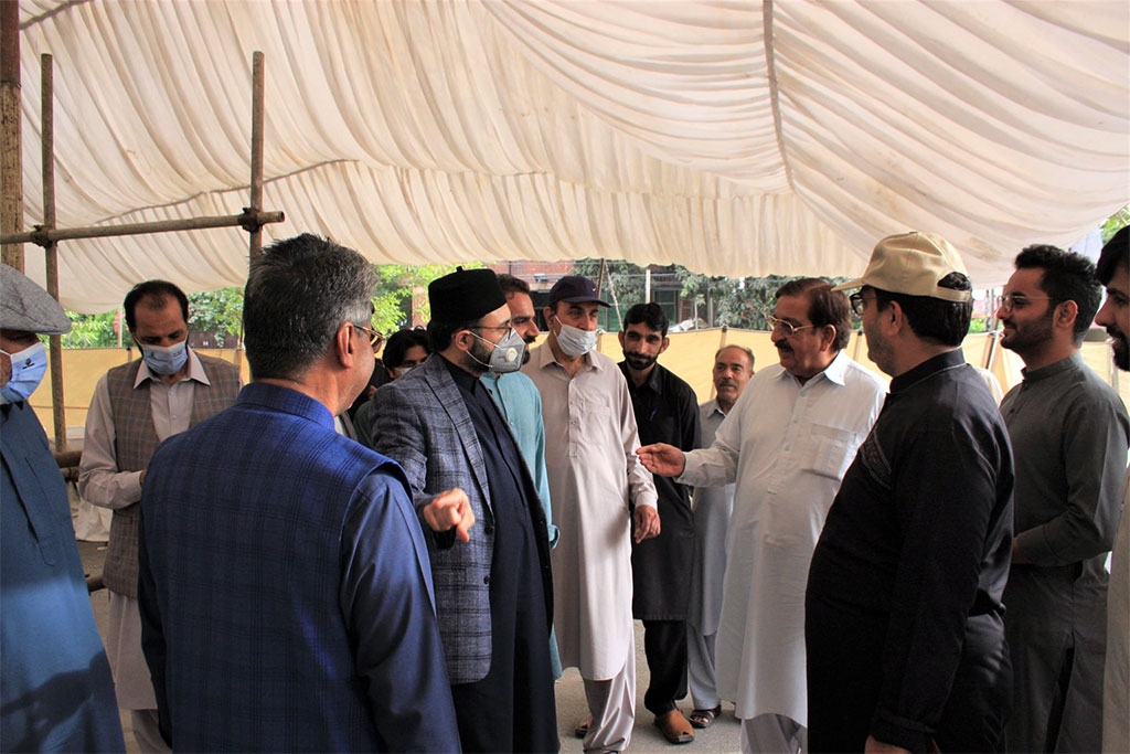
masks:
[[[626,363],[620,362],[620,371],[632,396],[640,444],[666,442],[684,451],[702,444],[698,399],[690,385],[660,364],[638,388]],[[695,553],[690,491],[661,476],[655,477],[655,491],[661,530],[632,548],[632,614],[643,621],[685,621]]]

